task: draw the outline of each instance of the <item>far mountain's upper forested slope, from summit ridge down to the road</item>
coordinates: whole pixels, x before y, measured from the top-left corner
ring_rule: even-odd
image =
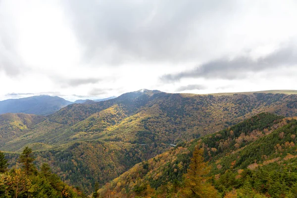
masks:
[[[175,144],[222,130],[263,111],[295,116],[296,103],[297,95],[201,96],[139,91],[94,104],[68,105],[36,125],[31,130],[34,135],[5,142],[0,149],[14,151],[21,148],[15,145],[24,143],[65,144],[94,139]]]

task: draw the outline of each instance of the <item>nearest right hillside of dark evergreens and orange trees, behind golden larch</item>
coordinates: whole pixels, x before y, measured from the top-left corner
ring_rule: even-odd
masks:
[[[136,164],[100,189],[99,195],[175,197],[184,188],[183,175],[196,145],[209,160],[209,181],[220,197],[296,195],[296,135],[297,120],[261,113]]]

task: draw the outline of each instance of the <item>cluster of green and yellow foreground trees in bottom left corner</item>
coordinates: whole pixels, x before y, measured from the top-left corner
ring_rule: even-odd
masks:
[[[43,163],[40,170],[33,164],[35,156],[31,148],[24,148],[18,161],[20,168],[7,169],[7,159],[0,151],[1,198],[86,198],[79,188],[72,188],[51,173]]]

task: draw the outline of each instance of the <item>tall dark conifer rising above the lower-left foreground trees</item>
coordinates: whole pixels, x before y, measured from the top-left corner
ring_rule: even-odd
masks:
[[[26,175],[31,174],[35,170],[33,161],[35,160],[32,149],[29,147],[24,148],[22,154],[19,157],[19,161],[23,164],[23,169]]]

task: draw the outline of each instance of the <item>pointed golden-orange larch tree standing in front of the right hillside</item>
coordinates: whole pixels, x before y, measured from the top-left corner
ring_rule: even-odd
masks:
[[[203,148],[196,146],[193,157],[189,165],[188,173],[185,174],[185,188],[181,195],[184,198],[216,198],[217,191],[207,182],[206,175],[210,171],[210,166],[204,162]]]

